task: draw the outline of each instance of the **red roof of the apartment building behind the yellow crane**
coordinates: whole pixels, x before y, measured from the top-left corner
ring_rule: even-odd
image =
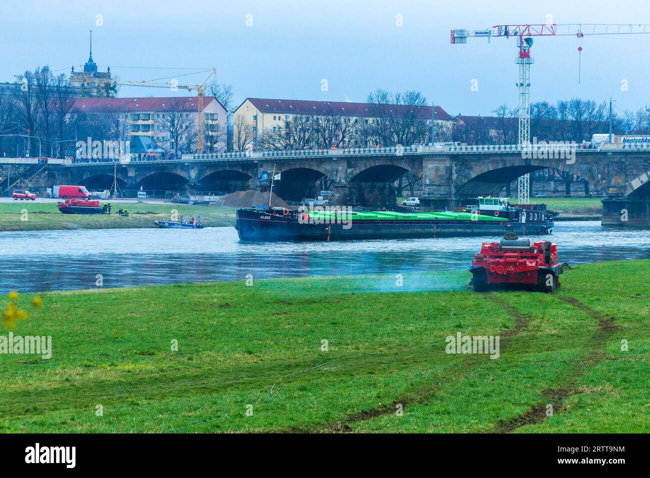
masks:
[[[212,101],[214,96],[205,96],[203,107]],[[83,113],[130,113],[136,111],[169,111],[170,104],[177,102],[182,111],[196,111],[198,109],[198,97],[196,96],[168,96],[156,98],[72,98],[72,111]],[[218,101],[218,100],[216,100]]]

